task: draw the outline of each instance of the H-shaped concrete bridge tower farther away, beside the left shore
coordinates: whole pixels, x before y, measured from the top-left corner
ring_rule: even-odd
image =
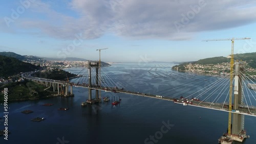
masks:
[[[92,84],[92,68],[95,67],[96,68],[96,85],[98,86],[99,84],[99,74],[98,74],[98,69],[99,69],[99,62],[95,62],[95,61],[89,61],[87,64],[87,68],[88,68],[88,73],[89,73],[89,82],[88,82],[88,91],[89,91],[89,95],[88,95],[88,100],[87,103],[93,104],[96,102],[100,102],[99,99],[99,90],[95,90],[96,91],[96,98],[92,99],[92,90],[93,90],[93,84]]]

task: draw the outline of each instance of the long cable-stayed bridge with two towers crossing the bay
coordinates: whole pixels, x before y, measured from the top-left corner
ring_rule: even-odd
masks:
[[[239,63],[237,63],[239,65]],[[97,69],[98,68],[98,69]],[[98,71],[101,71],[101,76],[99,77]],[[46,86],[53,87],[53,90],[58,90],[58,93],[68,93],[69,89],[72,93],[72,87],[83,87],[89,89],[88,101],[89,103],[97,103],[101,101],[101,95],[99,91],[104,92],[113,92],[113,93],[125,93],[138,95],[141,97],[155,98],[167,101],[173,101],[176,104],[182,104],[184,106],[196,106],[200,108],[207,108],[213,110],[220,110],[233,113],[233,119],[236,119],[233,123],[232,129],[237,129],[235,132],[232,132],[235,135],[234,139],[237,137],[246,137],[245,134],[241,133],[244,131],[244,115],[255,116],[256,114],[256,92],[254,89],[256,80],[253,76],[248,73],[248,71],[239,70],[238,81],[236,78],[233,79],[232,87],[234,91],[233,94],[238,93],[240,97],[237,99],[234,98],[232,101],[232,111],[229,111],[229,75],[221,76],[216,78],[216,81],[208,82],[204,78],[197,79],[193,74],[188,75],[190,79],[194,79],[193,82],[184,84],[183,86],[193,85],[195,82],[202,83],[200,89],[188,89],[191,91],[191,94],[174,94],[172,90],[184,92],[184,87],[172,87],[166,89],[159,89],[153,93],[146,93],[144,91],[138,90],[138,87],[134,87],[132,84],[129,84],[128,81],[124,81],[123,77],[117,77],[118,71],[108,71],[107,68],[99,67],[97,62],[90,62],[87,67],[84,67],[83,70],[78,74],[80,77],[72,80],[72,82],[63,82],[57,80],[49,80],[42,78],[31,77],[30,74],[23,74],[23,77],[29,80],[37,81],[39,83],[45,84]],[[166,74],[163,71],[158,70],[157,68],[150,68],[147,70],[147,75],[156,79],[184,79],[180,77],[177,73]],[[240,88],[238,88],[239,86]],[[95,90],[95,99],[93,99],[92,91]],[[193,93],[192,93],[193,91]],[[186,92],[187,93],[187,92]],[[175,96],[174,96],[175,95]],[[235,96],[234,96],[235,97]],[[254,105],[254,106],[253,106]],[[238,117],[238,118],[236,118]],[[238,125],[236,128],[234,125]],[[242,131],[243,130],[243,131]],[[243,140],[242,138],[242,140]]]

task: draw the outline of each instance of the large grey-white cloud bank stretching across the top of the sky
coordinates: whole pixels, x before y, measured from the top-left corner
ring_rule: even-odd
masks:
[[[67,6],[77,13],[76,17],[54,10],[51,4],[54,3],[33,3],[29,10],[44,18],[20,17],[11,28],[37,30],[36,35],[71,40],[77,33],[82,33],[84,39],[114,33],[132,39],[187,40],[197,32],[256,21],[253,0],[73,0]]]

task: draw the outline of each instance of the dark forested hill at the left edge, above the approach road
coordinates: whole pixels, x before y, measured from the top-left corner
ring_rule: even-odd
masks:
[[[0,77],[8,77],[39,68],[33,64],[19,61],[16,58],[0,56]]]

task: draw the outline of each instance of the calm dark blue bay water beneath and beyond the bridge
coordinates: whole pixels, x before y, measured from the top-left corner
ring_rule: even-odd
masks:
[[[209,85],[218,78],[196,74],[178,73],[168,63],[121,63],[102,68],[102,76],[122,83],[124,89],[144,93],[155,93],[165,97],[186,96]],[[66,68],[79,74],[82,67]],[[108,76],[104,76],[108,77]],[[106,78],[105,78],[106,79]],[[80,79],[81,80],[81,79]],[[74,79],[72,81],[78,81]],[[168,144],[208,144],[218,143],[218,138],[226,132],[228,113],[174,104],[136,95],[101,92],[102,97],[115,99],[111,102],[81,107],[88,99],[86,88],[73,87],[74,98],[50,98],[39,101],[9,103],[8,140],[0,137],[0,143],[74,144],[74,143],[168,143]],[[225,97],[223,96],[225,99]],[[209,100],[211,101],[211,100]],[[42,106],[53,103],[53,106]],[[58,111],[69,107],[68,111]],[[33,113],[23,114],[23,110]],[[3,118],[4,106],[0,105]],[[32,122],[31,118],[45,117],[42,122]],[[0,119],[0,129],[4,123]],[[256,117],[245,116],[245,129],[250,138],[244,143],[256,143]]]

